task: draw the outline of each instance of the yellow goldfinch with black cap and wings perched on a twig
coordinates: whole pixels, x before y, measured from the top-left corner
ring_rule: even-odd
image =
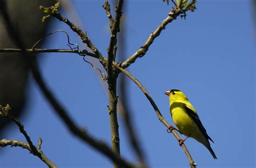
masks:
[[[169,96],[171,117],[177,127],[176,129],[173,126],[170,126],[167,131],[175,129],[180,132],[180,134],[186,136],[186,138],[178,140],[180,146],[188,137],[196,139],[210,151],[214,159],[217,159],[209,142],[209,140],[212,142],[213,140],[206,133],[206,129],[201,123],[197,111],[194,109],[190,101],[188,101],[186,95],[177,89],[168,90],[165,94]]]

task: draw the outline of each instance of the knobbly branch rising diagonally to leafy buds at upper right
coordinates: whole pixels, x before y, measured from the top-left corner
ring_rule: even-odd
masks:
[[[161,22],[161,24],[157,27],[157,29],[150,34],[145,44],[140,47],[139,50],[137,50],[133,55],[131,55],[131,57],[123,62],[122,68],[130,66],[137,58],[143,57],[146,54],[147,50],[149,50],[149,47],[153,43],[154,39],[156,39],[160,35],[161,31],[165,29],[165,26],[171,23],[172,20],[176,19],[181,12],[181,9],[173,8],[171,12],[169,12],[167,18],[165,18],[163,22]]]

